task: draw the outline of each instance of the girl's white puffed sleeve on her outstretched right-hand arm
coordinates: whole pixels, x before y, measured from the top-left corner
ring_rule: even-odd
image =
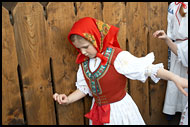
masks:
[[[153,52],[145,57],[137,58],[128,51],[122,51],[117,55],[114,67],[118,73],[125,75],[129,79],[145,82],[150,76],[157,83],[160,80],[160,78],[156,77],[157,71],[159,68],[163,68],[163,64],[153,65],[153,61]]]

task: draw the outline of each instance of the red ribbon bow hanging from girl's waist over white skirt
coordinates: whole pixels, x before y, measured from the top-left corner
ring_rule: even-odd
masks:
[[[93,125],[103,125],[110,122],[110,104],[98,106],[94,103],[93,108],[85,117],[92,120]]]

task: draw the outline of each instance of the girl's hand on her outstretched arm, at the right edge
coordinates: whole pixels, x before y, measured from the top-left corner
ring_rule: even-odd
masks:
[[[184,88],[188,88],[188,80],[185,78],[177,77],[174,81],[177,88],[185,95],[188,96],[188,93],[184,90]]]

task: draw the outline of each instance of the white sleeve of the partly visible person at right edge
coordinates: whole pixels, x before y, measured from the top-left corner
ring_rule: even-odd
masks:
[[[183,66],[188,67],[188,40],[177,44],[177,55]]]

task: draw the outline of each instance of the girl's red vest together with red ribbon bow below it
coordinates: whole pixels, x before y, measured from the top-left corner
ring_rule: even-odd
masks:
[[[93,97],[95,98],[94,106],[85,117],[93,121],[93,125],[102,125],[103,123],[109,123],[110,119],[110,103],[120,101],[125,95],[125,87],[127,78],[124,75],[119,74],[114,68],[114,61],[118,53],[122,50],[119,48],[113,48],[113,54],[110,57],[109,65],[107,66],[107,71],[102,73],[101,78],[97,78],[99,86],[101,87],[101,94],[95,95],[93,92]],[[83,64],[82,64],[83,65]],[[85,74],[85,69],[82,66],[82,71],[87,82],[88,87],[91,89],[90,79]],[[93,73],[95,73],[99,68],[97,68]],[[97,91],[96,91],[97,92]],[[99,106],[101,105],[101,106]]]

